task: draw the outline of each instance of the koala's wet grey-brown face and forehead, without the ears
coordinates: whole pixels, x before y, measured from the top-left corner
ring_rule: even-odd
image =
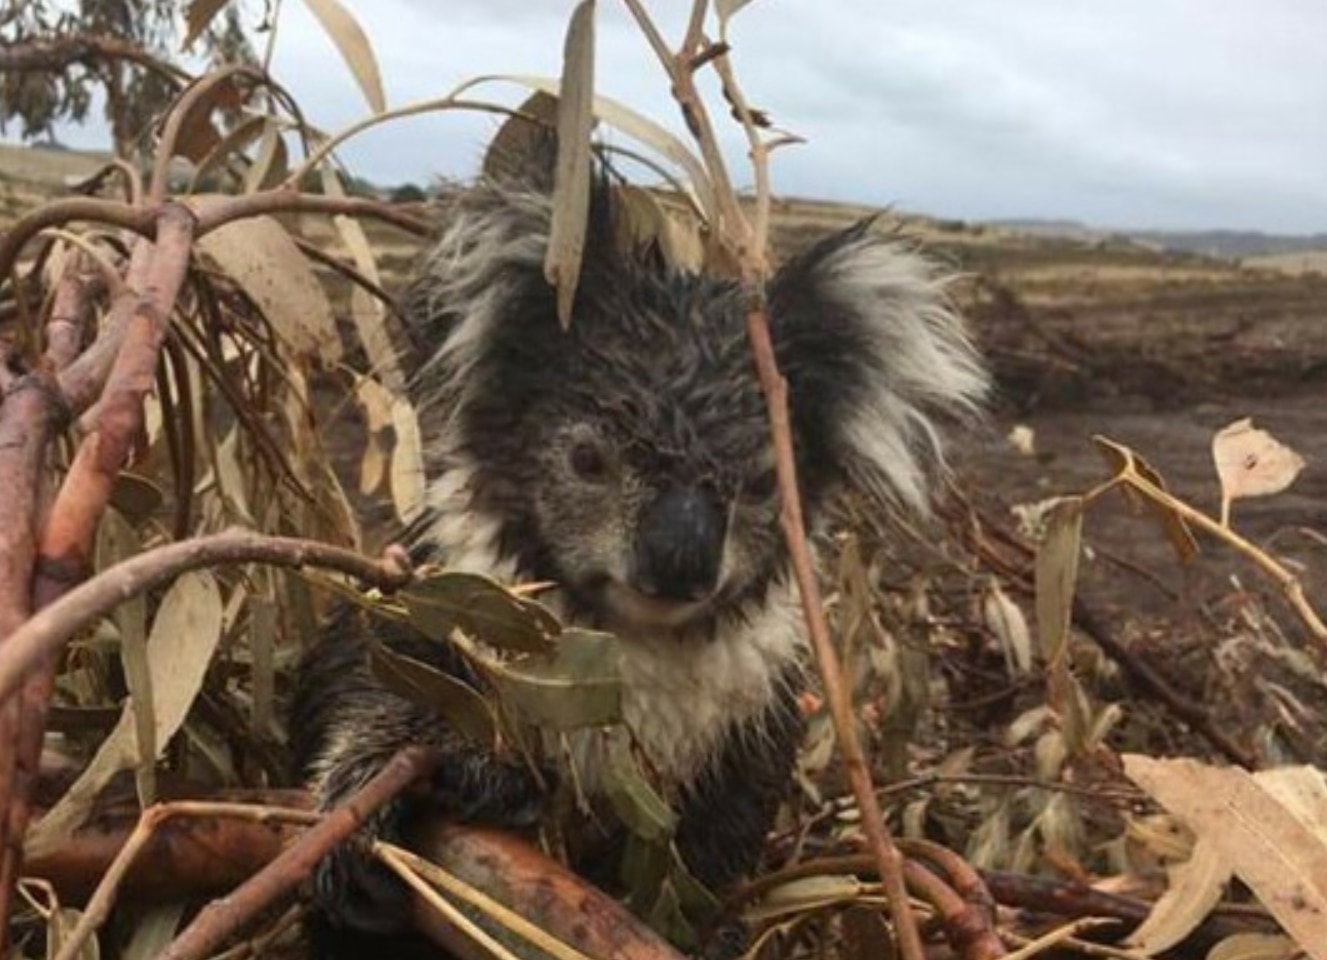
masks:
[[[701,623],[783,566],[774,450],[735,297],[634,280],[592,291],[572,329],[545,341],[541,389],[514,430],[524,441],[503,454],[523,463],[541,572],[624,633]]]

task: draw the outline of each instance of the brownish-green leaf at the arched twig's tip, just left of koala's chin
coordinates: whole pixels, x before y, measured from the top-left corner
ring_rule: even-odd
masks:
[[[410,612],[410,623],[435,640],[446,640],[459,627],[492,647],[551,653],[561,631],[544,607],[479,574],[446,571],[411,583],[398,598]]]

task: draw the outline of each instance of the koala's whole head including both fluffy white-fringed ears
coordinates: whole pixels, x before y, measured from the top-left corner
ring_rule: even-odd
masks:
[[[687,629],[786,571],[764,397],[736,284],[614,250],[608,202],[597,197],[564,331],[543,276],[547,198],[502,186],[453,198],[409,301],[429,469],[462,470],[494,555],[556,580],[580,615],[620,632]],[[986,389],[941,287],[867,224],[774,279],[811,522],[844,483],[925,509],[937,417]],[[456,530],[433,527],[443,560]]]

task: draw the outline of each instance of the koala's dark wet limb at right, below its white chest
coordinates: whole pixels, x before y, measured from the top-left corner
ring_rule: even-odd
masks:
[[[735,729],[679,811],[677,847],[691,874],[725,891],[760,859],[788,797],[804,724],[796,686],[782,684],[759,722]]]

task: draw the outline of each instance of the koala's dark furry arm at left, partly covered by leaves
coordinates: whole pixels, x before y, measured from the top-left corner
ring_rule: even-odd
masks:
[[[387,690],[368,664],[368,616],[345,609],[304,655],[291,709],[296,760],[318,809],[328,810],[364,786],[403,746],[435,746],[443,760],[422,789],[409,791],[370,817],[362,833],[402,842],[422,810],[456,821],[528,826],[543,793],[524,766],[466,740],[438,713]],[[413,636],[407,628],[373,628],[389,647],[470,680],[453,651]],[[317,867],[313,894],[334,920],[369,932],[409,925],[409,891],[382,864],[352,844]]]

